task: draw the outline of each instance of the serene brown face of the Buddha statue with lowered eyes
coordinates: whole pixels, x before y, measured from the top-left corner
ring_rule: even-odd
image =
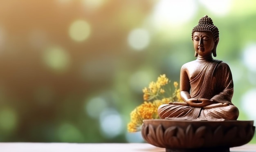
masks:
[[[202,57],[209,57],[215,47],[211,32],[194,32],[193,43],[195,51]]]

